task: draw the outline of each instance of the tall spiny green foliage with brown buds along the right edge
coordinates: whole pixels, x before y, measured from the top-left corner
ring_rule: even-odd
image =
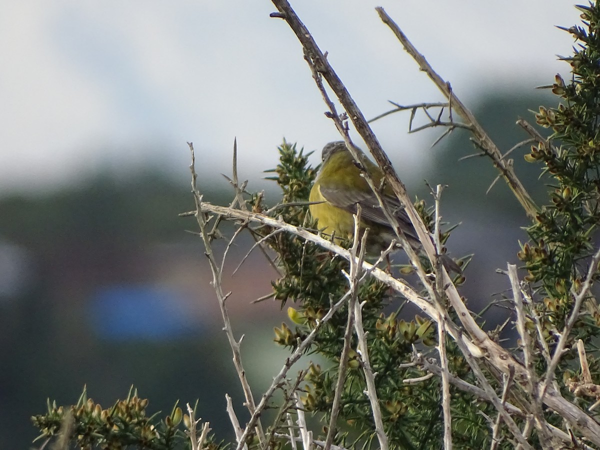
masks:
[[[540,107],[536,121],[553,133],[533,145],[525,159],[543,163],[551,179],[550,203],[542,206],[527,228],[531,242],[518,256],[529,271],[526,280],[540,287],[544,301],[538,312],[544,334],[561,329],[572,307],[573,292],[581,290],[589,257],[595,253],[594,233],[600,221],[600,5],[578,6],[583,26],[563,28],[577,41],[574,55],[562,58],[571,65],[571,80],[556,75],[552,92],[556,108]],[[600,279],[596,273],[593,280]],[[595,301],[586,305],[573,338],[598,335],[600,313]]]

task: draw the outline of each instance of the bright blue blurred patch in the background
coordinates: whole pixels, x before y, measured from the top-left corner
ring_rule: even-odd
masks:
[[[127,340],[188,337],[202,331],[190,302],[175,289],[121,285],[98,290],[89,303],[89,320],[102,338]]]

